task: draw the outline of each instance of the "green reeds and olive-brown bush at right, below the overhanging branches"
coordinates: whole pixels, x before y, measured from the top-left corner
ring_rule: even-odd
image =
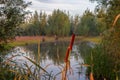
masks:
[[[114,25],[111,29],[104,33],[101,45],[97,46],[93,51],[93,71],[95,78],[101,80],[118,80],[120,78],[120,28]],[[89,62],[90,55],[87,60]]]

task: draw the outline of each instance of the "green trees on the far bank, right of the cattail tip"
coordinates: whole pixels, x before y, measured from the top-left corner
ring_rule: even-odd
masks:
[[[104,19],[102,10],[94,14],[87,9],[79,19],[75,32],[81,36],[98,36],[106,30]]]

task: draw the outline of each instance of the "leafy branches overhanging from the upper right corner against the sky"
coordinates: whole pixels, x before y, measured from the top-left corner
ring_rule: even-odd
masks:
[[[97,1],[98,6],[96,9],[104,8],[106,12],[105,21],[107,23],[107,27],[110,28],[112,26],[114,18],[120,13],[120,0],[90,0]],[[120,21],[116,26],[119,26]]]

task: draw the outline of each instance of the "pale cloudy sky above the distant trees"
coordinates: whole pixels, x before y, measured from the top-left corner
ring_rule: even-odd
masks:
[[[94,12],[97,3],[91,3],[89,0],[25,0],[32,2],[27,9],[30,11],[43,11],[51,14],[54,9],[69,11],[70,15],[82,15],[86,9]]]

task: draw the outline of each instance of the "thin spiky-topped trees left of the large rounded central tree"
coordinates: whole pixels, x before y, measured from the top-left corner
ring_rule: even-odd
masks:
[[[45,28],[47,25],[47,15],[46,13],[40,12],[40,14],[35,11],[30,19],[21,28],[24,30],[22,35],[36,36],[45,35]]]

